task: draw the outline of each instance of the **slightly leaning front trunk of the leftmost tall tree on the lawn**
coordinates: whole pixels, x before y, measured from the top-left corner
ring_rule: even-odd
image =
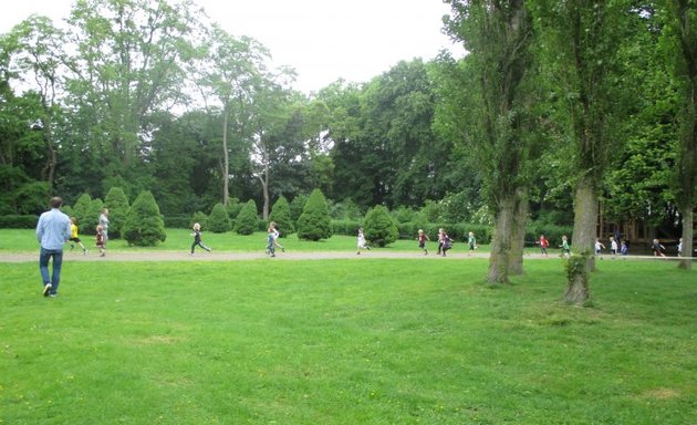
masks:
[[[489,257],[489,283],[508,283],[511,240],[516,220],[516,198],[508,195],[499,198],[499,210],[496,215],[491,253]]]

